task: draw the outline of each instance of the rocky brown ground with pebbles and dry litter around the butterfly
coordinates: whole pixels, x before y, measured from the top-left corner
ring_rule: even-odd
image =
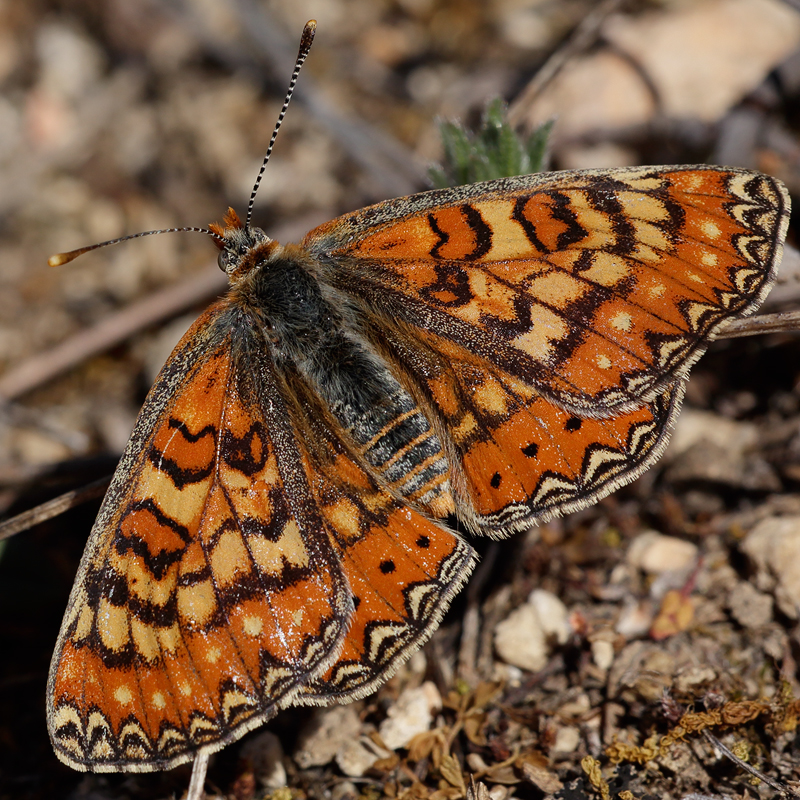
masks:
[[[425,188],[437,118],[476,123],[497,95],[522,127],[556,117],[556,168],[708,161],[800,189],[795,3],[4,0],[0,510],[110,472],[170,348],[224,286],[196,235],[58,269],[47,257],[243,210],[310,17],[317,42],[256,206],[282,241]],[[787,273],[770,310],[797,293]],[[455,800],[471,776],[492,800],[781,796],[717,741],[800,786],[798,364],[793,333],[712,345],[656,467],[479,542],[476,574],[400,673],[222,751],[209,796]],[[0,551],[1,799],[186,790],[184,768],[74,773],[47,740],[47,666],[96,511]]]

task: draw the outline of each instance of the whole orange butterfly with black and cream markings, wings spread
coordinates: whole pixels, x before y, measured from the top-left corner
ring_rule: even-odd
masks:
[[[659,457],[788,215],[779,181],[702,166],[423,192],[300,244],[230,210],[228,294],[156,379],[69,598],[57,756],[168,769],[373,691],[473,568],[448,517],[506,536]]]

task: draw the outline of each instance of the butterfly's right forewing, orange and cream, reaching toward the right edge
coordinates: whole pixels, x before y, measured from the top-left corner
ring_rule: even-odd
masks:
[[[612,416],[684,375],[774,280],[789,198],[716,167],[549,173],[427,192],[313,230],[325,279],[557,403]]]

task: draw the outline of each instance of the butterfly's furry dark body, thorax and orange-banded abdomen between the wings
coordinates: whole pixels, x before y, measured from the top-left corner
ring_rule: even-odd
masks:
[[[364,335],[363,312],[320,281],[319,265],[299,248],[268,242],[259,252],[261,260],[248,265],[233,292],[248,316],[260,320],[276,364],[296,370],[322,398],[389,486],[440,516],[450,507],[442,444]]]

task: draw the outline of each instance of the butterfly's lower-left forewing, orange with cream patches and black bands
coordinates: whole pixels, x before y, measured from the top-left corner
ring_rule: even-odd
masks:
[[[350,590],[272,365],[234,312],[213,308],[173,353],[87,545],[48,684],[53,745],[74,768],[219,749],[342,646]]]

